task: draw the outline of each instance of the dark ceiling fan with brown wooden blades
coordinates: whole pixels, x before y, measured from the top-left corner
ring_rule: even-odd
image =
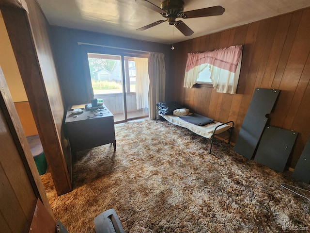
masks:
[[[148,0],[136,0],[142,5],[158,12],[162,17],[167,18],[166,20],[158,20],[154,23],[138,28],[137,31],[144,31],[158,24],[168,21],[170,25],[174,25],[181,33],[185,36],[191,35],[194,32],[182,21],[177,18],[197,18],[207,16],[220,16],[224,13],[225,9],[221,6],[212,6],[192,11],[184,12],[184,0],[164,0],[160,7],[156,6]]]

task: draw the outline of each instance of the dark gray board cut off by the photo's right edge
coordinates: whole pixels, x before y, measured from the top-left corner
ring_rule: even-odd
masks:
[[[293,177],[304,183],[310,183],[310,138],[294,168]]]

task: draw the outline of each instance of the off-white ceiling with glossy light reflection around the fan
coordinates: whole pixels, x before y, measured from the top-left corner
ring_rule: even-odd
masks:
[[[160,6],[162,0],[149,0]],[[183,35],[167,22],[142,32],[137,28],[165,19],[135,0],[37,0],[49,24],[165,44],[274,17],[310,6],[310,0],[184,0],[184,11],[221,5],[221,16],[182,19],[194,33]]]

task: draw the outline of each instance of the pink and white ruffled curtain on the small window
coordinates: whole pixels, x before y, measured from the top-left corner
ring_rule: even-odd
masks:
[[[242,45],[202,53],[188,53],[184,87],[197,83],[199,73],[209,67],[213,87],[220,93],[235,94],[240,75]]]

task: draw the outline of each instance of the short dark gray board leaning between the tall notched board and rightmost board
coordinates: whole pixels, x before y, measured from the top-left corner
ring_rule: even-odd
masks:
[[[298,133],[267,126],[257,148],[254,161],[283,172]]]

